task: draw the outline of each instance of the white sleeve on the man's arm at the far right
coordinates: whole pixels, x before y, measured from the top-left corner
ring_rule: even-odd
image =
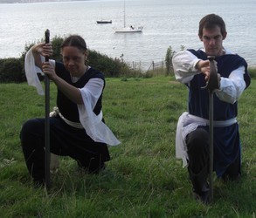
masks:
[[[246,69],[240,66],[231,72],[228,78],[220,79],[220,90],[216,91],[218,99],[234,104],[246,89],[244,74]]]

